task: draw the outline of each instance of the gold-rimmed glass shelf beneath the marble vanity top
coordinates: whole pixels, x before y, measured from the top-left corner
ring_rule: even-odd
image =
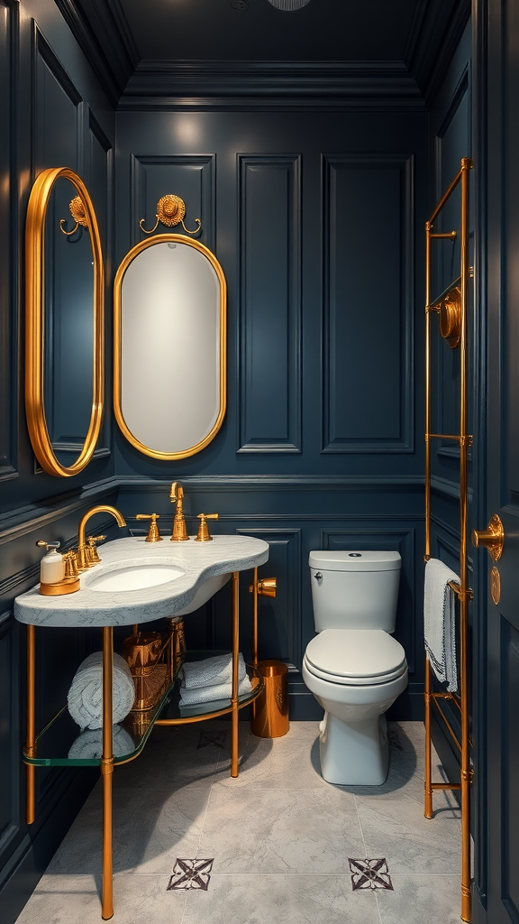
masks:
[[[203,658],[224,653],[229,652],[188,651],[185,661],[201,661]],[[263,687],[259,671],[249,664],[247,664],[247,675],[252,691],[238,697],[238,709],[243,709],[256,699]],[[145,712],[130,712],[123,722],[114,726],[114,750],[119,750],[119,753],[115,753],[114,756],[115,764],[127,763],[138,757],[151,734],[153,725],[157,722],[187,724],[232,711],[230,699],[218,699],[200,703],[197,706],[181,707],[179,686],[180,681],[177,674],[173,684],[159,699],[156,706]],[[34,767],[99,767],[101,758],[89,756],[89,751],[93,750],[94,754],[100,752],[102,736],[101,728],[94,731],[87,730],[78,735],[78,725],[64,706],[37,736],[35,756],[28,757],[24,749],[23,760]],[[81,756],[68,756],[73,746],[79,754],[82,751]]]

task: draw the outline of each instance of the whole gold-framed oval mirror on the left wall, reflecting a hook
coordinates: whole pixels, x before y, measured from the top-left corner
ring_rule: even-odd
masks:
[[[37,176],[25,253],[30,442],[42,468],[66,478],[88,465],[99,437],[104,350],[101,238],[87,188],[68,167]]]

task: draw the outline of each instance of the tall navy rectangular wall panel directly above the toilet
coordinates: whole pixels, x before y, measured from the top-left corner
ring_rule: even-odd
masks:
[[[321,452],[412,453],[414,157],[323,155],[322,170]]]

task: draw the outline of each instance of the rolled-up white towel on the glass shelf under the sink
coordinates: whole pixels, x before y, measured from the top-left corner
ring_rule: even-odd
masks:
[[[94,651],[79,664],[68,690],[68,711],[81,731],[103,725],[103,652]],[[135,687],[129,667],[114,655],[113,722],[122,722],[133,706]]]

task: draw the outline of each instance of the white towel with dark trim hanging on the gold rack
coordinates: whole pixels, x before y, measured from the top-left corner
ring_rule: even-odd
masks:
[[[455,595],[449,581],[460,578],[438,558],[426,564],[424,589],[424,637],[429,663],[452,693],[458,688],[456,667]]]

